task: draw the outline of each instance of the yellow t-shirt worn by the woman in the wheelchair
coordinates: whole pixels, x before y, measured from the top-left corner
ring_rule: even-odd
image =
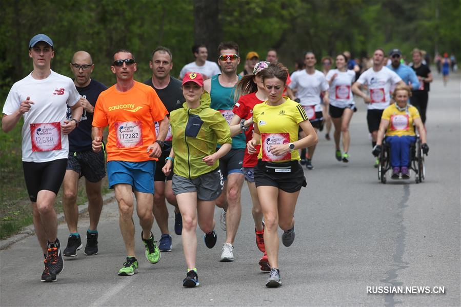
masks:
[[[408,106],[408,110],[399,111],[395,104],[390,105],[383,111],[381,118],[389,120],[386,136],[414,136],[413,120],[419,118],[418,109]]]

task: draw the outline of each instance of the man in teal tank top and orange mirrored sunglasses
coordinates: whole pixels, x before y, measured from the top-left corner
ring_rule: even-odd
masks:
[[[234,107],[235,85],[240,79],[237,76],[237,66],[240,63],[238,45],[234,42],[221,43],[218,46],[218,64],[222,74],[205,80],[204,89],[210,93],[210,108],[218,110],[231,123]],[[224,176],[224,190],[216,199],[216,205],[223,208],[221,213],[221,228],[226,230],[226,241],[223,245],[221,261],[234,261],[234,239],[242,216],[240,193],[245,180],[242,164],[245,154],[245,134],[240,133],[232,138],[232,149],[219,159],[219,169]]]

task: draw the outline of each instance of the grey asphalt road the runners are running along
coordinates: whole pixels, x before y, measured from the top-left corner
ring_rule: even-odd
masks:
[[[99,254],[66,258],[56,283],[41,283],[42,254],[34,236],[1,251],[2,306],[138,305],[385,305],[459,306],[460,301],[460,79],[443,87],[435,73],[428,110],[429,156],[426,181],[377,181],[361,101],[351,122],[350,162],[337,162],[333,141],[320,134],[308,187],[296,207],[296,240],[280,247],[282,287],[266,289],[254,241],[251,201],[244,188],[242,222],[235,261],[219,262],[225,234],[217,229],[214,249],[198,230],[197,268],[201,285],[184,289],[186,266],[181,238],[173,250],[149,264],[142,257],[136,229],[140,273],[117,276],[125,260],[115,203],[104,207]],[[391,181],[391,182],[389,182]],[[170,208],[171,209],[171,208]],[[170,214],[173,233],[173,215]],[[218,219],[219,210],[215,212]],[[137,223],[137,221],[135,220]],[[79,231],[89,225],[81,218]],[[67,242],[67,227],[58,237]],[[159,230],[154,227],[154,235]],[[139,256],[141,255],[141,256]],[[367,286],[443,286],[445,294],[367,294]]]

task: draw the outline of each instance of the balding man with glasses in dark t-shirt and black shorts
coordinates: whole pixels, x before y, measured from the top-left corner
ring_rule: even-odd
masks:
[[[84,109],[78,127],[69,134],[69,157],[63,181],[63,209],[70,233],[63,255],[75,257],[77,250],[83,247],[82,238],[77,229],[78,179],[82,176],[85,176],[85,190],[88,196],[88,214],[90,216],[90,227],[86,233],[87,242],[84,254],[96,255],[98,252],[97,224],[103,209],[101,180],[106,176],[106,153],[104,149],[99,153],[95,153],[91,149],[91,123],[93,122],[97,97],[102,91],[107,90],[107,87],[91,78],[94,64],[91,55],[86,51],[75,52],[72,63],[70,63],[70,69],[74,74],[75,87],[81,95],[79,102]],[[68,118],[71,118],[70,111],[70,108],[67,108]]]

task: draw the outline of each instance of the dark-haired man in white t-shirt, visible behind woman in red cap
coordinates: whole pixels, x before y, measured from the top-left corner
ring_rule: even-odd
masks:
[[[195,56],[195,61],[184,65],[181,72],[179,72],[180,80],[182,80],[184,75],[189,71],[201,73],[204,80],[221,73],[221,69],[219,69],[219,66],[215,62],[207,60],[208,49],[205,45],[192,46],[192,53]]]

